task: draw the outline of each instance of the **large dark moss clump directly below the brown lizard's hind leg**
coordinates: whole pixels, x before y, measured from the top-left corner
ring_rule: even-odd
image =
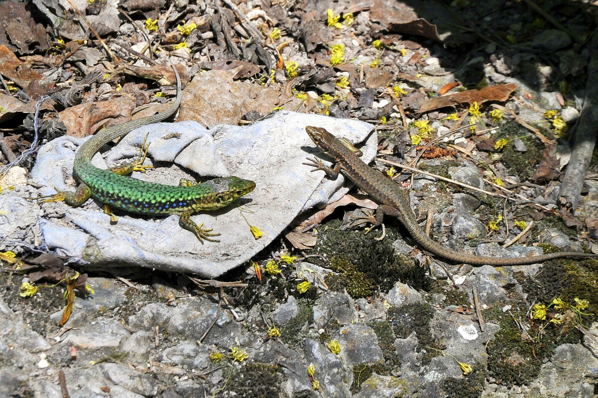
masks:
[[[363,231],[340,230],[340,220],[332,220],[320,233],[316,246],[316,251],[331,261],[316,257],[309,261],[342,272],[340,276],[329,277],[327,283],[336,290],[347,288],[349,294],[356,294],[353,297],[365,297],[375,291],[388,292],[398,280],[414,289],[428,290],[425,270],[410,258],[395,254],[392,242],[399,234],[392,223],[390,218],[386,223],[387,236],[377,241],[374,237],[379,232],[366,235]]]

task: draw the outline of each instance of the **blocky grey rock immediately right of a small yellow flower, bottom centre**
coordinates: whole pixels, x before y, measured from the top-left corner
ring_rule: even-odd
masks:
[[[356,323],[340,328],[336,340],[340,343],[340,354],[347,366],[375,363],[383,359],[378,337],[369,326]]]

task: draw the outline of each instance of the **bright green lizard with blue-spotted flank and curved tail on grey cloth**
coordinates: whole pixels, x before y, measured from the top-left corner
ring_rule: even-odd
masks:
[[[91,158],[104,144],[123,137],[133,129],[163,121],[176,112],[181,105],[181,78],[174,65],[172,69],[176,76],[176,99],[172,106],[164,112],[107,128],[85,141],[77,150],[73,167],[73,175],[80,182],[77,190],[61,192],[56,189],[58,193],[44,202],[63,201],[71,206],[80,206],[92,196],[105,203],[105,212],[111,215],[112,221],[117,219],[112,214],[111,207],[137,214],[178,214],[179,225],[193,232],[200,242],[203,243],[204,239],[219,242],[213,239],[213,236],[219,236],[219,233],[213,233],[212,229],[204,229],[203,223],[197,226],[189,218],[190,215],[229,205],[254,190],[254,181],[231,176],[195,183],[182,178],[178,186],[169,186],[125,177],[133,171],[145,171],[151,167],[143,165],[145,155],[142,156],[141,153],[135,162],[108,170],[99,169],[91,164]],[[142,146],[142,152],[143,150]],[[147,152],[147,147],[145,151]]]

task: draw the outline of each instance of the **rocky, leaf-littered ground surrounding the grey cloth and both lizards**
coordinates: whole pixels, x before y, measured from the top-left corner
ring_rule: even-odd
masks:
[[[17,217],[18,205],[4,206],[10,192],[37,189],[26,185],[37,138],[129,118],[154,94],[142,77],[168,54],[185,84],[200,70],[239,68],[227,90],[206,82],[215,97],[183,119],[212,127],[286,107],[376,125],[372,165],[411,186],[422,227],[449,248],[595,251],[588,153],[581,199],[561,198],[575,184],[565,176],[578,167],[573,133],[588,128],[582,111],[596,95],[591,2],[76,5],[81,14],[49,0],[0,4],[0,150],[13,165],[2,170],[0,207],[13,227],[33,223],[0,224],[0,396],[598,396],[593,258],[443,263],[393,220],[367,234],[348,228],[345,211],[372,207],[353,190],[288,220],[279,239],[216,279],[144,264],[98,271],[48,253],[35,223],[62,220],[60,210]],[[98,80],[107,72],[120,77]],[[42,94],[53,102],[39,114]],[[102,108],[108,101],[117,102]],[[486,192],[417,172],[410,180],[388,162]]]

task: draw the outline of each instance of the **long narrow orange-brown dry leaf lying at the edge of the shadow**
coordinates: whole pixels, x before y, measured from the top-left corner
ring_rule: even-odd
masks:
[[[483,87],[478,90],[467,90],[455,94],[444,95],[443,97],[428,98],[419,103],[419,112],[443,108],[445,106],[456,106],[474,102],[478,104],[486,101],[507,101],[511,92],[515,91],[517,85],[514,83],[499,84],[496,86]]]

